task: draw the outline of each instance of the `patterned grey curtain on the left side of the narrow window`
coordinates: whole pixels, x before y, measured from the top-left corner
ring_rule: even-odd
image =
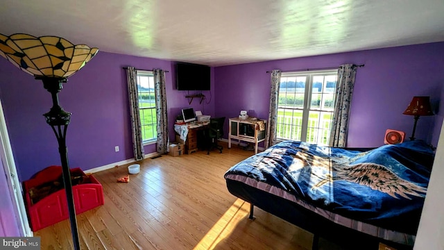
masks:
[[[145,156],[142,144],[142,126],[140,125],[139,100],[137,94],[137,70],[134,67],[126,69],[128,77],[128,95],[130,97],[130,117],[133,134],[133,151],[135,160],[143,160]]]

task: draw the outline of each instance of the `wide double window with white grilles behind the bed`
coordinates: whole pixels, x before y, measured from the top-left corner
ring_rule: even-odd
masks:
[[[282,73],[278,101],[278,140],[328,145],[337,70]]]

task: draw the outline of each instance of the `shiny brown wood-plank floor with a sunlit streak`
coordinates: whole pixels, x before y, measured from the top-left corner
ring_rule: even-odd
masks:
[[[129,183],[127,165],[94,176],[105,205],[77,215],[81,249],[311,249],[313,235],[230,194],[223,174],[252,156],[237,145],[223,153],[146,159]],[[69,221],[35,232],[42,249],[72,249]],[[320,249],[336,249],[320,242]]]

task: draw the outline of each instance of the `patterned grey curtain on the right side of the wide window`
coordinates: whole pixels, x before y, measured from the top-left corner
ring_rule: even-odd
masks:
[[[330,147],[345,147],[347,144],[348,118],[355,86],[356,65],[341,65],[336,83],[336,98],[332,130],[330,131]]]

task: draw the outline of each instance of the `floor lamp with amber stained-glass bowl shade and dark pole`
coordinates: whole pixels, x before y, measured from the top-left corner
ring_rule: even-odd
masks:
[[[37,80],[43,81],[43,88],[51,93],[53,107],[44,114],[46,123],[56,134],[60,160],[62,163],[62,178],[67,195],[69,222],[74,249],[80,249],[78,238],[76,209],[71,184],[71,172],[67,156],[66,133],[71,113],[63,110],[58,102],[58,92],[62,90],[67,77],[76,73],[99,49],[89,48],[85,44],[74,45],[71,42],[55,36],[36,38],[33,35],[14,34],[9,37],[0,34],[0,55],[24,72],[31,74]]]

